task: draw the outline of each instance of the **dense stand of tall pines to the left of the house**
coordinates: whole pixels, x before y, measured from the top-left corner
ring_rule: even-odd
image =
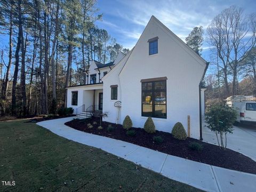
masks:
[[[96,0],[0,0],[0,116],[55,114],[65,87],[86,82],[92,60],[114,61],[123,49],[95,26]]]

